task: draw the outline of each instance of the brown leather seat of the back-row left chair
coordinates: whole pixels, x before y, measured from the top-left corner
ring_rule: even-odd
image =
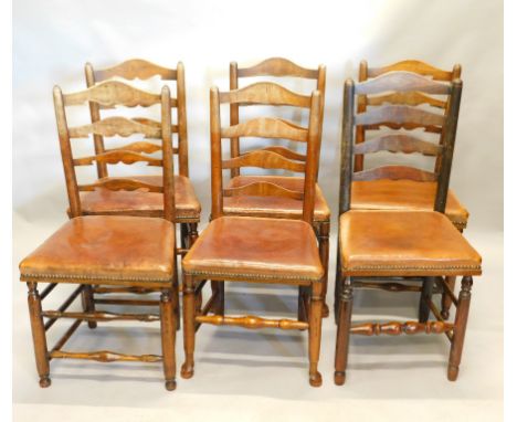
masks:
[[[162,184],[161,176],[131,176],[130,178],[150,184]],[[106,179],[112,178],[103,180]],[[189,178],[175,176],[175,201],[176,221],[199,222],[201,205]],[[134,191],[96,189],[92,192],[81,192],[81,203],[85,215],[163,215],[163,194],[147,192],[144,189]]]

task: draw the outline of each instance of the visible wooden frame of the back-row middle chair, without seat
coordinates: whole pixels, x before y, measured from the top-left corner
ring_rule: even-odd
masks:
[[[323,133],[324,108],[325,108],[325,87],[326,87],[326,66],[319,65],[318,68],[306,68],[293,63],[292,61],[283,57],[272,57],[262,61],[261,63],[250,67],[239,67],[236,62],[230,63],[230,89],[239,89],[240,78],[257,77],[257,76],[273,76],[273,77],[298,77],[305,80],[314,80],[316,82],[316,89],[321,96],[321,115],[319,118],[319,136]],[[239,125],[239,109],[241,106],[247,104],[230,104],[230,124],[232,126]],[[230,152],[232,158],[241,155],[241,139],[234,136],[230,139]],[[294,159],[299,157],[293,156]],[[319,162],[317,162],[316,181],[319,172]],[[240,176],[239,168],[231,169],[231,177]],[[328,221],[314,221],[314,230],[318,238],[319,255],[321,263],[325,267],[325,283],[324,283],[324,317],[327,317],[328,306],[326,304],[327,285],[328,285],[328,257],[329,257],[329,235],[330,235],[330,220]]]

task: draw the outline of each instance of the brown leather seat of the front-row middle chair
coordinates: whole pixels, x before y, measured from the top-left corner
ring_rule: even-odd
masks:
[[[203,230],[183,273],[222,279],[319,281],[324,268],[313,228],[300,220],[221,217]]]

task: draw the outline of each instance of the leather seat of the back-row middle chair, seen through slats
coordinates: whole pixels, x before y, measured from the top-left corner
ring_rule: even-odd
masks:
[[[286,176],[236,176],[232,178],[228,188],[266,181],[283,188],[304,191],[304,178]],[[284,197],[229,197],[224,198],[224,214],[245,217],[267,217],[273,219],[299,219],[302,217],[302,201]],[[314,221],[330,220],[330,209],[316,184]]]

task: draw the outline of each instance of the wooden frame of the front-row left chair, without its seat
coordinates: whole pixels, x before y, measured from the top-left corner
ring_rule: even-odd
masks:
[[[70,210],[72,218],[81,218],[81,197],[80,191],[87,191],[96,187],[103,187],[110,190],[133,190],[133,189],[149,189],[163,193],[165,215],[163,218],[175,223],[175,188],[173,188],[173,162],[172,162],[172,143],[171,143],[171,118],[170,118],[170,92],[168,87],[163,87],[161,95],[146,93],[125,85],[120,82],[104,82],[95,85],[86,91],[62,94],[60,87],[54,87],[54,107],[57,122],[57,131],[61,146],[61,155],[63,160],[64,173],[66,179],[66,190],[68,194]],[[144,107],[160,104],[161,105],[161,123],[159,125],[147,125],[134,119],[123,117],[106,118],[96,120],[94,124],[68,127],[66,122],[65,107],[81,104],[97,104],[98,106],[136,106]],[[114,151],[97,151],[96,155],[85,158],[73,158],[71,148],[71,138],[84,137],[88,134],[110,135],[113,133],[140,133],[155,134],[162,139],[161,148],[163,158],[156,159],[144,156],[133,150],[114,150]],[[101,163],[114,162],[136,162],[146,161],[151,166],[160,166],[163,168],[163,187],[157,187],[143,183],[138,180],[130,179],[114,179],[108,182],[98,181],[92,184],[78,184],[75,175],[75,167],[92,165],[94,161]],[[135,218],[137,219],[137,218]],[[175,263],[176,266],[176,263]],[[166,378],[166,388],[173,390],[176,388],[176,316],[175,308],[178,308],[178,285],[177,277],[170,281],[170,284],[152,281],[128,281],[128,279],[112,279],[95,278],[85,275],[81,279],[57,279],[56,277],[34,276],[31,274],[21,274],[21,281],[27,282],[29,287],[29,310],[31,317],[32,336],[34,342],[35,358],[38,372],[40,374],[40,386],[49,387],[50,379],[50,361],[52,359],[86,359],[99,362],[112,361],[140,361],[140,362],[158,362],[162,361],[163,372]],[[40,294],[38,291],[39,283],[49,283],[49,285]],[[81,283],[77,288],[64,300],[56,310],[43,310],[42,302],[60,283]],[[109,287],[106,287],[109,286]],[[158,306],[159,314],[119,314],[98,310],[96,304],[113,303],[109,300],[97,299],[93,297],[95,289],[140,289],[154,288],[161,293],[159,300],[126,300],[131,305]],[[67,308],[75,302],[78,296],[82,296],[83,312],[67,312]],[[127,303],[118,302],[124,305]],[[46,318],[46,323],[44,321]],[[46,331],[54,325],[57,319],[75,319],[66,333],[56,341],[51,349],[46,345]],[[137,320],[137,321],[160,321],[161,325],[161,344],[162,355],[125,355],[109,350],[97,351],[65,351],[63,347],[72,337],[82,321],[87,321],[91,328],[94,328],[97,321],[109,323],[115,320]]]

